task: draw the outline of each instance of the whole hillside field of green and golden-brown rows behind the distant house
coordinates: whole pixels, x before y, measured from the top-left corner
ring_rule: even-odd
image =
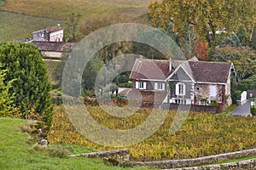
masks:
[[[127,19],[146,14],[148,2],[149,0],[6,0],[0,6],[0,41],[29,37],[32,31],[67,20],[71,13],[81,14],[79,30],[82,31],[78,32],[81,39],[102,26],[127,22],[130,21]]]

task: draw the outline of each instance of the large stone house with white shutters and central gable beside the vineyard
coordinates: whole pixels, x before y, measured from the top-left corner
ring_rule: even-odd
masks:
[[[154,95],[161,104],[223,105],[232,104],[230,75],[233,65],[224,62],[189,60],[136,59],[132,71],[132,91]],[[127,94],[136,99],[136,92]],[[137,94],[138,95],[138,94]]]

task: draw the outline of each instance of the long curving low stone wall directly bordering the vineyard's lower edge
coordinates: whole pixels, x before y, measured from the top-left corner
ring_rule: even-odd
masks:
[[[256,155],[256,149],[241,150],[216,156],[206,156],[194,159],[170,160],[170,161],[131,161],[134,166],[153,166],[160,168],[176,168],[176,167],[195,167],[198,165],[209,164],[216,161],[225,161],[244,156]]]

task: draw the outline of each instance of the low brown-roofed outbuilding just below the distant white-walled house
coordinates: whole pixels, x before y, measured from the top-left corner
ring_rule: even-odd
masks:
[[[38,47],[38,51],[44,57],[61,58],[63,54],[71,51],[73,43],[71,42],[32,42],[33,45]]]

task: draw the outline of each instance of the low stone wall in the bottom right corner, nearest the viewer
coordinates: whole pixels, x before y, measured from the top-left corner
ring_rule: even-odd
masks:
[[[251,159],[247,161],[238,161],[233,163],[223,163],[219,165],[210,165],[203,167],[183,167],[169,170],[255,170],[256,169],[256,159]]]

